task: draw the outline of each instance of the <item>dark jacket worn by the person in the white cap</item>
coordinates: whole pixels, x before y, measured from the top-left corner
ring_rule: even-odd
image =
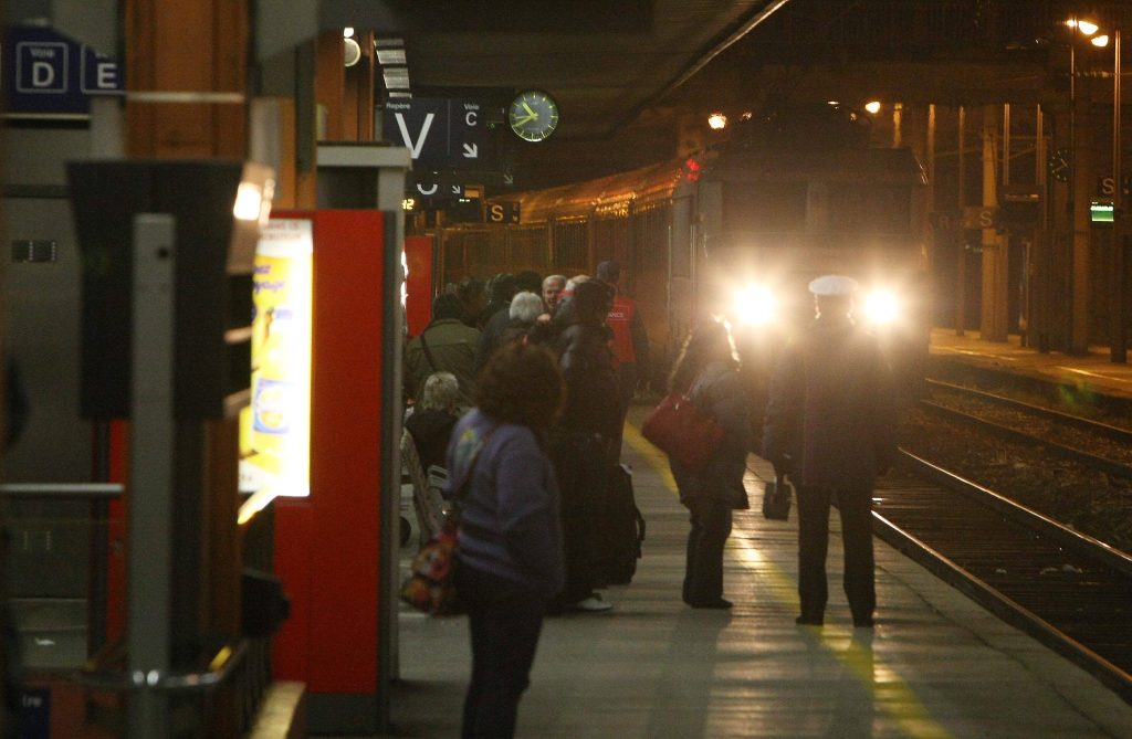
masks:
[[[818,318],[771,379],[763,456],[796,484],[872,489],[895,457],[895,393],[876,340]]]

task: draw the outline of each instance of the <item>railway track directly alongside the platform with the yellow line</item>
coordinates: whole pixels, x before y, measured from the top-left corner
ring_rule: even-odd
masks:
[[[1132,703],[1132,557],[902,453],[876,534]]]

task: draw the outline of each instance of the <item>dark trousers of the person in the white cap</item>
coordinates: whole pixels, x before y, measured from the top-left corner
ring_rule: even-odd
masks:
[[[837,495],[844,543],[844,591],[855,621],[876,609],[873,578],[873,491],[798,488],[798,596],[801,616],[821,620],[829,600],[825,555],[830,539],[830,501]]]

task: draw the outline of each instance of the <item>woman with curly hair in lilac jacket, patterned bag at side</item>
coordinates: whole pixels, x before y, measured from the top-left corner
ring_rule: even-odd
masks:
[[[456,592],[472,642],[465,738],[514,736],[542,619],[566,579],[558,485],[543,442],[563,397],[548,350],[507,344],[453,431],[449,492],[464,495]]]

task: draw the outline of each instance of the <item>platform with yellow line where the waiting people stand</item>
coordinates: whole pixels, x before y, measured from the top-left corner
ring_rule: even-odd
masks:
[[[648,407],[637,405],[631,422]],[[1132,706],[877,541],[877,626],[854,629],[840,588],[833,516],[823,628],[799,627],[797,510],[769,522],[771,475],[749,458],[752,510],[726,552],[730,612],[680,602],[688,524],[666,458],[626,435],[648,521],[631,585],[607,613],[549,618],[520,706],[521,737],[1074,737],[1132,736]],[[405,560],[411,547],[403,550]],[[456,737],[470,674],[468,624],[400,617],[396,737]]]

